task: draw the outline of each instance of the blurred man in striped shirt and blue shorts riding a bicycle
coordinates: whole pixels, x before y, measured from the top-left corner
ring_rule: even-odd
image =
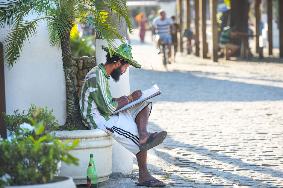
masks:
[[[152,22],[152,26],[155,27],[155,31],[156,31],[156,39],[157,39],[157,44],[159,47],[159,53],[161,53],[160,50],[160,40],[163,39],[167,42],[167,46],[168,46],[168,58],[171,59],[171,44],[172,44],[172,38],[171,38],[171,30],[170,30],[170,26],[172,28],[172,33],[175,33],[175,25],[174,22],[171,18],[166,17],[165,14],[165,10],[160,9],[158,10],[158,14],[160,14],[159,17],[156,17],[153,22]],[[168,61],[168,63],[170,64],[171,62]]]

